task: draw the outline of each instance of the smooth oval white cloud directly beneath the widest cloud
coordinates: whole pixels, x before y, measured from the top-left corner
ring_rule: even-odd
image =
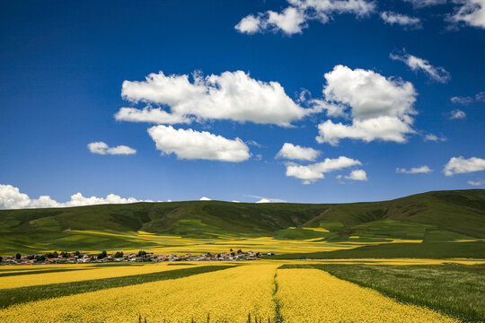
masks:
[[[207,131],[154,126],[148,134],[163,154],[175,153],[179,159],[242,162],[250,158],[249,147],[241,139],[226,139]]]

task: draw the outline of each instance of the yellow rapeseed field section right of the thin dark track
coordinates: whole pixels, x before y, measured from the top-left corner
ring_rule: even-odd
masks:
[[[318,269],[280,269],[277,282],[279,310],[286,322],[458,322]]]

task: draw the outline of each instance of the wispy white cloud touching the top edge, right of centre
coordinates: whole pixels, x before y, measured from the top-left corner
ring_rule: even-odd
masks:
[[[282,31],[287,35],[301,33],[309,21],[329,22],[334,14],[351,13],[363,17],[375,11],[375,3],[366,0],[287,0],[282,12],[250,14],[235,25],[242,33]]]

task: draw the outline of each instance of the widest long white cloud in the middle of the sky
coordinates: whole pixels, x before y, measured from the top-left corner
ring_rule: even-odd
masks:
[[[145,81],[123,82],[121,96],[148,106],[121,108],[115,114],[117,120],[155,124],[225,119],[288,127],[314,112],[295,103],[278,82],[258,81],[242,71],[194,73],[192,80],[187,74],[149,74]]]

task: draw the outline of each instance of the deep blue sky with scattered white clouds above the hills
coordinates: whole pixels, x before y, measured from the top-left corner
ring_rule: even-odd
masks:
[[[483,188],[485,2],[420,4],[3,2],[0,207]]]

